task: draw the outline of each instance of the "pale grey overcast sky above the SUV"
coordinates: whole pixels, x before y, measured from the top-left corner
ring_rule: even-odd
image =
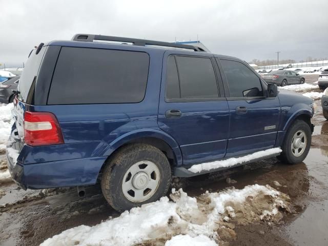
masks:
[[[200,41],[250,61],[328,56],[328,1],[0,0],[0,63],[22,64],[39,43],[75,33]]]

